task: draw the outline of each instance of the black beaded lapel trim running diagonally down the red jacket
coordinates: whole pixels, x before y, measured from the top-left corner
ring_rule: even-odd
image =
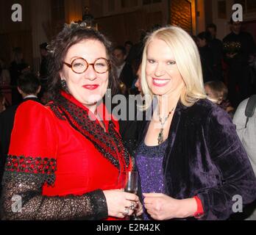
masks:
[[[124,166],[129,167],[129,152],[121,140],[119,134],[115,131],[114,124],[110,120],[108,132],[104,131],[102,126],[95,120],[90,120],[88,111],[73,104],[63,96],[54,101],[49,106],[57,117],[63,120],[68,120],[68,123],[79,131],[90,142],[93,142],[95,148],[102,153],[115,167],[120,170],[119,161],[122,161]],[[121,157],[122,156],[122,157]]]

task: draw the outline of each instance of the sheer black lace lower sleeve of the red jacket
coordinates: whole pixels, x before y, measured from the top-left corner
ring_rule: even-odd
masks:
[[[101,220],[107,217],[102,190],[84,195],[42,195],[46,178],[40,174],[6,171],[1,195],[2,220]]]

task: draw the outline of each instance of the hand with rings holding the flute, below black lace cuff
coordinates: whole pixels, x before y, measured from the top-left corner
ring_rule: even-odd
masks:
[[[120,189],[103,191],[107,200],[108,215],[124,218],[131,215],[136,208],[142,213],[142,206],[137,195]]]

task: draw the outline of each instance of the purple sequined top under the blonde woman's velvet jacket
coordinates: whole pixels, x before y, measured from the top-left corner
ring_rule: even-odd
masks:
[[[165,192],[163,183],[163,157],[167,145],[167,140],[156,146],[147,146],[144,141],[139,145],[135,161],[141,178],[142,192]],[[151,220],[144,206],[143,211],[143,219]]]

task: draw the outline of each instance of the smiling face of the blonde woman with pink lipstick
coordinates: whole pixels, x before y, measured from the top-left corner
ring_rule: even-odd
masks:
[[[185,87],[171,48],[154,38],[146,51],[146,81],[154,95],[180,93]]]

